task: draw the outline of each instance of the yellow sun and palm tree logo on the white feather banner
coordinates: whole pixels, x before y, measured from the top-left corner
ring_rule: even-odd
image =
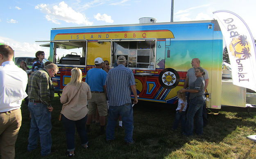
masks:
[[[238,38],[234,37],[229,45],[232,55],[239,59],[249,58],[251,56],[250,48],[251,45],[245,35],[240,35]]]

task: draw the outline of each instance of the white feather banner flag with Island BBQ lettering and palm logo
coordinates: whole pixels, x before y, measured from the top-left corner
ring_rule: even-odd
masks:
[[[256,91],[256,49],[247,24],[236,13],[214,11],[225,39],[233,84]]]

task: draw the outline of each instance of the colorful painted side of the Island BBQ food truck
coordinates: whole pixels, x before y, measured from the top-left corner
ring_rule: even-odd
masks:
[[[88,40],[84,48],[88,51],[86,64],[78,66],[82,69],[83,81],[86,72],[94,67],[96,56],[102,55],[111,62],[113,41],[154,41],[154,69],[132,68],[138,99],[145,101],[176,103],[177,91],[183,88],[187,70],[191,68],[191,60],[199,58],[200,66],[208,71],[210,77],[207,90],[214,100],[208,103],[218,105],[221,92],[222,34],[213,28],[208,29],[208,25],[214,28],[215,24],[211,21],[200,21],[57,28],[51,31],[51,40],[70,40],[73,43],[75,40]],[[50,56],[53,59],[54,42],[51,46]],[[59,65],[59,76],[52,80],[57,91],[61,92],[70,81],[73,67],[77,66]]]

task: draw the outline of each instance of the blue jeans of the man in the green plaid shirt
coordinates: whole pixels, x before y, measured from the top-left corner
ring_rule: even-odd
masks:
[[[31,114],[30,130],[28,137],[27,150],[32,151],[37,147],[37,140],[40,137],[41,155],[46,156],[51,153],[52,130],[51,112],[43,103],[28,103],[28,108]]]

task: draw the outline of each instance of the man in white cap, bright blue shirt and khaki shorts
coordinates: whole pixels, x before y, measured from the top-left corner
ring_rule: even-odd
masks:
[[[106,72],[101,69],[104,61],[102,58],[97,57],[94,60],[95,68],[90,69],[86,74],[85,82],[91,88],[92,98],[88,100],[88,119],[86,122],[86,131],[90,132],[90,125],[92,121],[93,114],[96,113],[98,108],[100,116],[100,135],[105,133],[105,116],[108,113],[108,108],[106,106],[106,95],[105,95],[105,80]]]

